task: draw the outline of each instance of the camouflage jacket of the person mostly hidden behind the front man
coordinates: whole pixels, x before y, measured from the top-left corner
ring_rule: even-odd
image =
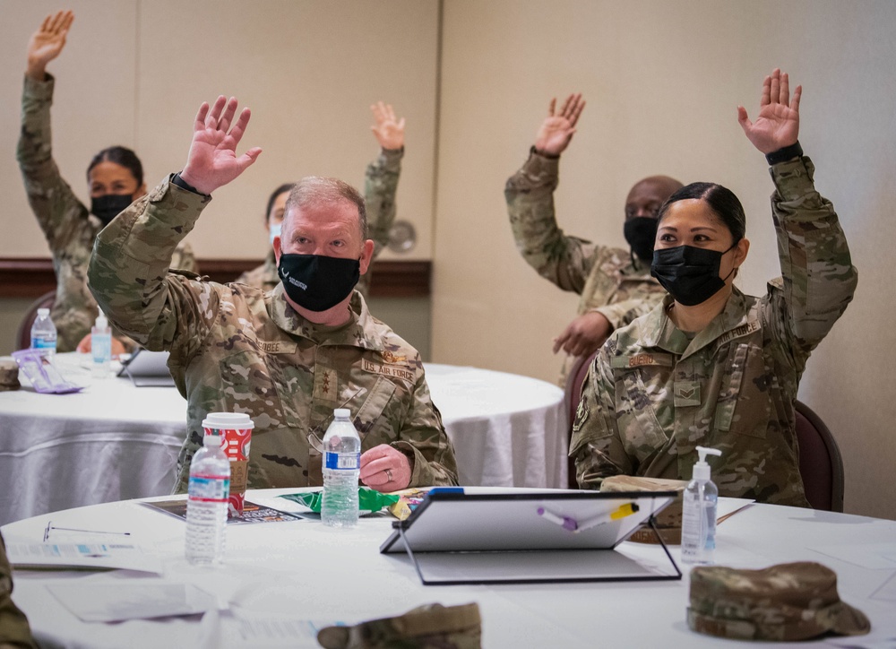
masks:
[[[374,240],[374,256],[389,243],[389,230],[395,221],[395,192],[398,191],[398,179],[401,175],[401,158],[404,149],[395,151],[382,149],[376,160],[367,165],[364,176],[364,203],[367,211],[367,236]],[[373,260],[371,260],[373,261]],[[373,266],[361,275],[355,287],[365,298],[370,290],[370,275]],[[246,271],[237,281],[262,290],[271,290],[280,284],[277,274],[277,259],[273,248],[264,257],[264,264]]]

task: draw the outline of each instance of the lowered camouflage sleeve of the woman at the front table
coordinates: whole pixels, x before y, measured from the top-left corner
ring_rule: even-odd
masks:
[[[607,344],[615,342],[611,337]],[[575,411],[569,456],[582,489],[599,489],[611,475],[637,475],[616,427],[616,381],[609,356],[605,345],[594,357]]]

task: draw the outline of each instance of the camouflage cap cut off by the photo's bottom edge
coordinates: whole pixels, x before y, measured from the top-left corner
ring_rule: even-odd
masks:
[[[324,627],[317,642],[326,649],[479,649],[481,635],[477,603],[426,604],[395,618]]]

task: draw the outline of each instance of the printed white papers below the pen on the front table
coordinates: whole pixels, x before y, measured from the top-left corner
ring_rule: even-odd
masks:
[[[13,567],[22,569],[117,568],[161,575],[158,557],[140,546],[117,543],[10,543],[6,556]]]

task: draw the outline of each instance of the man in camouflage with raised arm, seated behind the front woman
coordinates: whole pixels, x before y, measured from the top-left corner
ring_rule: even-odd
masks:
[[[546,280],[581,296],[578,316],[554,341],[555,354],[561,348],[567,352],[559,379],[563,386],[576,357],[590,356],[614,329],[650,311],[666,293],[650,277],[656,231],[650,221],[681,183],[651,176],[632,187],[625,200],[625,238],[631,251],[565,236],[557,227],[554,191],[560,154],[575,134],[585,102],[582,95],[570,95],[556,115],[555,108],[556,100],[551,100],[529,160],[507,180],[504,197],[523,259]]]

